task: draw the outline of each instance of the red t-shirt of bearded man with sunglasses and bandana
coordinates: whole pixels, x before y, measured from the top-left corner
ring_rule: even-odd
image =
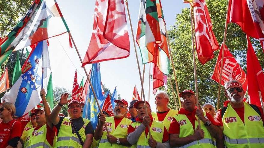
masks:
[[[261,119],[264,123],[264,115],[263,115],[263,110],[262,108],[260,108],[259,106],[257,106],[260,113],[261,113]],[[243,123],[244,122],[244,111],[245,111],[245,107],[241,107],[241,108],[233,108],[235,110],[235,112],[237,113],[237,115],[239,116],[239,118],[242,120]],[[219,109],[215,115],[215,122],[218,123],[220,126],[223,126],[223,122],[222,122],[222,116],[221,116],[221,109]]]

